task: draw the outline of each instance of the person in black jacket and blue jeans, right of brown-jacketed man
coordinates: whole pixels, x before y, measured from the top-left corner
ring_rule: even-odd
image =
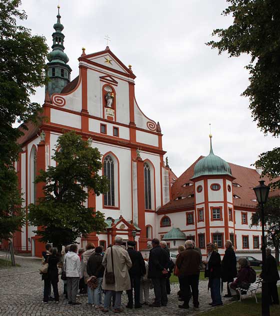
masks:
[[[211,291],[211,306],[222,305],[220,297],[220,255],[214,251],[214,245],[208,243],[207,259],[203,261],[205,267],[205,278],[208,277],[208,288]]]

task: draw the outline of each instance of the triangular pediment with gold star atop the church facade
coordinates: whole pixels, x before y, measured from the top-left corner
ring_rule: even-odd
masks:
[[[122,63],[109,48],[96,53],[81,56],[79,60],[135,78],[132,70],[125,66],[124,63]]]

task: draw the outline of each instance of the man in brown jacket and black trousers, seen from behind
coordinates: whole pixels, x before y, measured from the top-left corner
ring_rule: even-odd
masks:
[[[190,288],[192,291],[193,307],[198,308],[198,280],[200,255],[193,249],[191,240],[185,242],[185,250],[178,254],[176,266],[178,269],[178,278],[180,291],[182,292],[183,304],[179,305],[180,309],[188,309],[190,299]]]

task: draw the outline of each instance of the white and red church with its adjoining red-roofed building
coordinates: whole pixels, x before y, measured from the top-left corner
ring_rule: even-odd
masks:
[[[79,75],[70,80],[71,68],[64,53],[63,25],[58,10],[53,25],[52,51],[48,55],[48,76],[43,115],[39,127],[29,125],[18,142],[22,152],[15,164],[23,207],[42,196],[42,184],[34,184],[40,169],[55,166],[51,159],[57,138],[74,130],[102,154],[100,174],[110,179],[109,191],[100,196],[88,192],[87,205],[102,212],[107,227],[81,238],[105,248],[116,235],[133,240],[146,252],[152,238],[163,239],[176,249],[193,239],[206,255],[206,244],[214,242],[221,255],[230,239],[237,252],[260,253],[260,227],[250,227],[256,209],[252,187],[258,184],[254,169],[228,164],[213,154],[200,156],[179,177],[164,164],[162,134],[158,122],[148,118],[135,96],[135,74],[107,46],[86,54],[82,49]],[[44,138],[39,135],[45,134]],[[41,256],[44,245],[26,225],[13,236],[14,248]],[[258,256],[259,257],[259,256]]]

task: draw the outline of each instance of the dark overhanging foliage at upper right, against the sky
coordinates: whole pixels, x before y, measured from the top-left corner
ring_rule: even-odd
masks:
[[[226,29],[215,29],[220,38],[207,45],[219,54],[230,57],[241,53],[251,56],[246,65],[249,86],[242,93],[249,98],[249,109],[257,126],[267,134],[280,134],[280,5],[278,0],[227,0],[223,15],[232,15],[233,23]],[[280,175],[280,148],[262,153],[256,166],[271,179]],[[280,188],[280,181],[273,183]]]

